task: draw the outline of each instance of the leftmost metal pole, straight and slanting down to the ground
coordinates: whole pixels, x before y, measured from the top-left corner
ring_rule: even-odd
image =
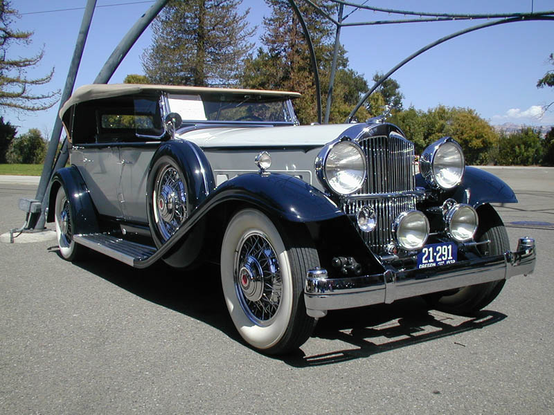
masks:
[[[73,91],[73,86],[75,86],[75,78],[77,77],[77,71],[81,63],[82,52],[84,50],[84,44],[87,42],[87,36],[89,34],[89,28],[91,27],[92,16],[94,14],[94,8],[96,7],[96,0],[88,0],[87,6],[84,8],[84,13],[82,15],[81,27],[79,28],[79,34],[77,36],[77,42],[75,43],[75,49],[73,50],[73,57],[71,58],[71,64],[69,65],[69,71],[67,72],[67,78],[65,81],[64,91],[62,92],[62,98],[60,99],[60,109],[66,100],[69,99],[71,91]],[[44,229],[44,224],[46,223],[46,217],[44,212],[46,210],[46,201],[44,200],[44,194],[46,193],[46,188],[50,182],[52,176],[52,169],[54,164],[54,159],[57,153],[57,145],[60,143],[60,136],[62,135],[62,120],[60,117],[55,116],[54,128],[50,136],[50,142],[48,143],[48,151],[46,151],[46,157],[44,158],[44,166],[42,167],[42,174],[40,176],[39,187],[37,188],[37,195],[35,199],[37,201],[42,201],[42,212],[36,221],[30,222],[30,228],[39,230]]]

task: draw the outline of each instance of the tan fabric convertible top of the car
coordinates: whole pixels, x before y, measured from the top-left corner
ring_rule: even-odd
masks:
[[[117,97],[121,95],[132,95],[146,91],[166,91],[169,93],[228,93],[228,94],[245,94],[252,93],[258,95],[280,96],[283,98],[298,98],[301,96],[298,92],[286,91],[264,91],[260,89],[233,89],[233,88],[207,88],[202,86],[177,86],[177,85],[150,85],[150,84],[91,84],[80,86],[71,95],[69,100],[65,102],[60,109],[60,118],[63,117],[65,111],[74,104],[79,102],[98,100],[100,98]]]

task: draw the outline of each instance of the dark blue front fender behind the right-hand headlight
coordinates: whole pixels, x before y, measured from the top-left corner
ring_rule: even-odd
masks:
[[[428,187],[421,174],[415,176],[417,186]],[[465,167],[462,183],[448,195],[458,203],[467,203],[474,208],[484,203],[517,203],[514,191],[494,174]]]

